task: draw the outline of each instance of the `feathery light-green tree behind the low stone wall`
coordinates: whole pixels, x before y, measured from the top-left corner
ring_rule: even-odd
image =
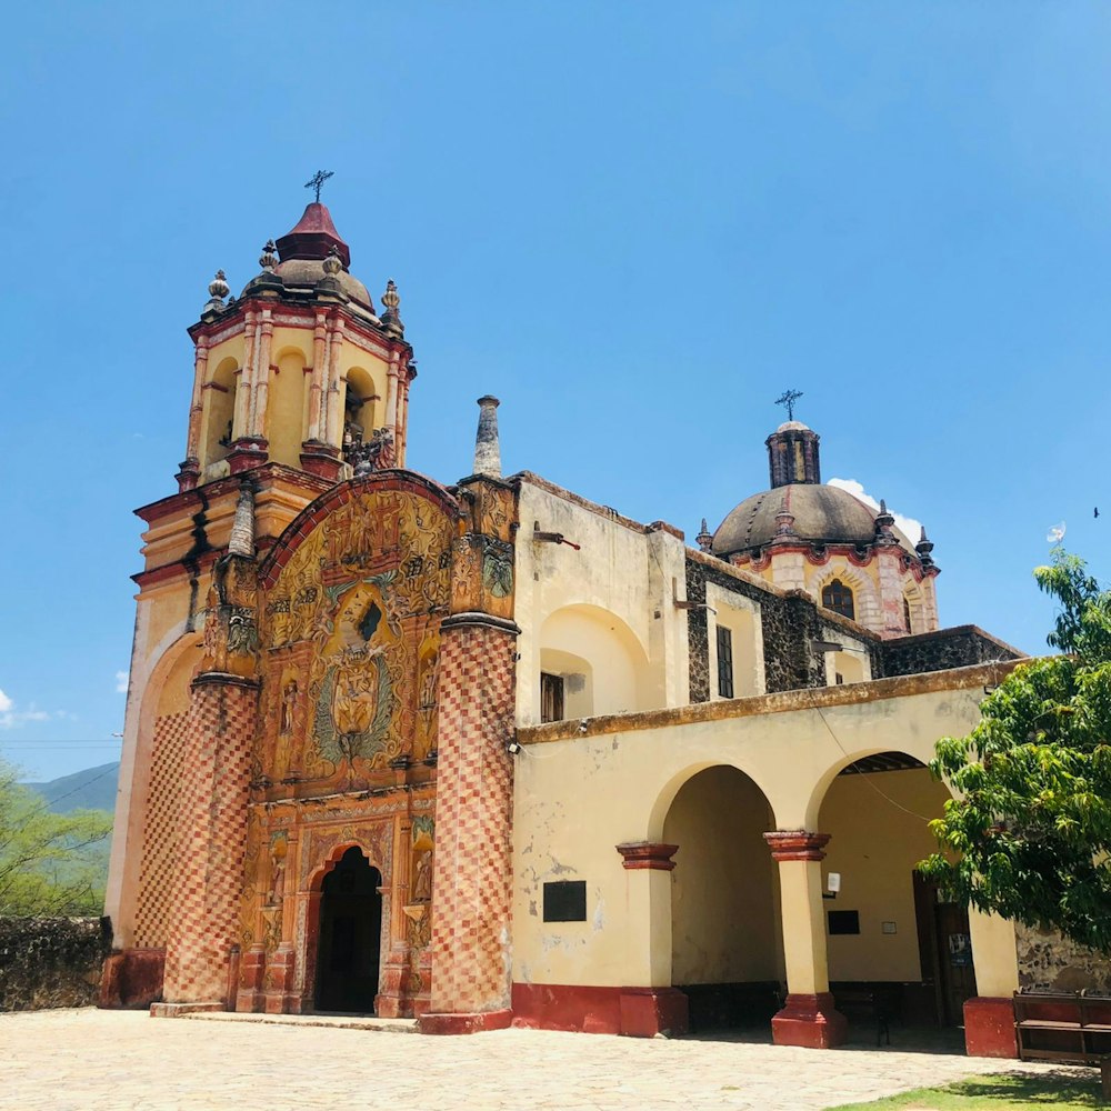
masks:
[[[0,914],[99,914],[111,815],[52,813],[0,762]]]

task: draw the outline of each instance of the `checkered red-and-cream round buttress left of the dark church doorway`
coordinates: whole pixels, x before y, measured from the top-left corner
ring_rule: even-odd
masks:
[[[238,940],[247,792],[257,688],[201,675],[192,687],[163,999],[202,1002],[228,992]]]

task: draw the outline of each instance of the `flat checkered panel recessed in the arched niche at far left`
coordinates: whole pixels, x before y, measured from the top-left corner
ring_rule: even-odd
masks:
[[[136,899],[136,945],[141,949],[161,949],[166,944],[188,727],[188,713],[168,713],[154,722]]]

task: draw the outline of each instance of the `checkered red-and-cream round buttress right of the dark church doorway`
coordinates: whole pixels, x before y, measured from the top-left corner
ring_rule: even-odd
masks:
[[[440,641],[432,998],[439,1014],[510,1007],[516,640],[482,624]]]

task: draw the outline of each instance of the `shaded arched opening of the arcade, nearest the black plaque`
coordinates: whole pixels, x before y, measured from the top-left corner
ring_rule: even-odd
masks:
[[[783,980],[779,877],[763,839],[767,798],[737,768],[692,775],[675,794],[663,840],[671,873],[671,982],[687,993],[691,1032],[761,1027]]]

